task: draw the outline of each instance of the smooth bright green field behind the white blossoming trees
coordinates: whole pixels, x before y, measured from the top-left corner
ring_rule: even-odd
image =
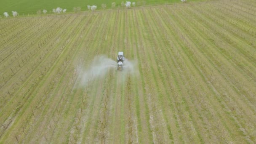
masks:
[[[4,12],[8,12],[11,16],[11,11],[17,11],[20,15],[23,14],[36,14],[38,10],[46,9],[49,12],[53,8],[61,7],[66,8],[67,12],[72,12],[73,7],[81,7],[81,11],[87,11],[87,5],[97,5],[101,9],[101,4],[107,4],[107,8],[111,8],[111,3],[115,2],[116,7],[120,7],[122,1],[125,0],[0,0],[0,15],[3,16]],[[190,0],[200,1],[200,0]],[[165,3],[180,3],[180,0],[133,0],[138,5],[156,5]],[[52,12],[51,12],[52,13]]]

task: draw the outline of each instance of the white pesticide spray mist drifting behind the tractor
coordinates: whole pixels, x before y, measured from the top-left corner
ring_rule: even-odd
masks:
[[[111,70],[112,69],[112,70]],[[108,72],[113,72],[115,75],[120,73],[120,77],[117,77],[118,83],[123,82],[127,75],[138,75],[139,71],[137,68],[136,61],[125,60],[123,64],[123,70],[117,71],[117,61],[107,58],[107,56],[100,55],[96,56],[91,62],[90,66],[85,69],[81,65],[77,67],[76,73],[78,75],[76,85],[79,87],[87,86],[90,81],[95,80],[96,78],[107,77]]]

